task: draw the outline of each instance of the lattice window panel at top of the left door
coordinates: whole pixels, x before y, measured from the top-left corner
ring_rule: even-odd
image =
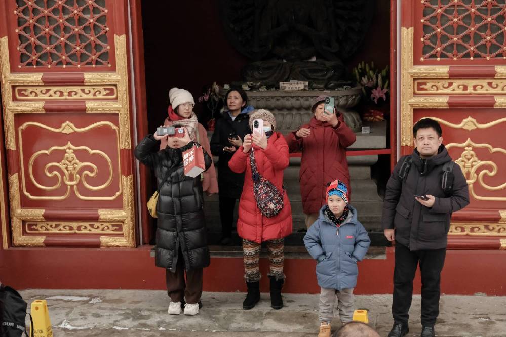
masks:
[[[111,66],[106,0],[15,0],[20,65]]]

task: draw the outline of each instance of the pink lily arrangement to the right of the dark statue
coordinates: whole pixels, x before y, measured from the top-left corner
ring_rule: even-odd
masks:
[[[353,68],[353,75],[357,83],[362,86],[366,100],[374,102],[374,104],[380,104],[380,99],[383,99],[383,102],[387,101],[388,65],[383,70],[379,70],[374,66],[374,62],[369,64],[362,61]]]

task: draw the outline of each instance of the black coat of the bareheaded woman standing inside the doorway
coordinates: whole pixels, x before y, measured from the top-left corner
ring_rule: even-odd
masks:
[[[232,120],[227,111],[222,113],[222,118],[216,120],[214,134],[211,137],[211,152],[218,156],[218,189],[219,195],[227,198],[241,198],[244,185],[244,173],[234,173],[228,167],[228,161],[233,153],[224,152],[225,146],[232,146],[228,141],[228,135],[235,132],[241,140],[251,133],[249,127],[249,114],[241,113]]]

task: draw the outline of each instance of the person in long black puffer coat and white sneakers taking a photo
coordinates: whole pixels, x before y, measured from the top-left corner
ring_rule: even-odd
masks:
[[[171,298],[169,314],[181,313],[183,296],[185,315],[199,312],[203,268],[209,266],[201,175],[184,175],[182,153],[193,145],[188,131],[184,138],[148,135],[134,150],[135,157],[151,167],[157,176],[157,246],[155,265],[166,269],[167,292]],[[160,140],[167,148],[158,151]],[[206,170],[212,159],[204,151]],[[186,273],[186,282],[184,274]]]

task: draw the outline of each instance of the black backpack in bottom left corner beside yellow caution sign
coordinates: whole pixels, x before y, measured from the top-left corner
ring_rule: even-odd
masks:
[[[11,287],[0,286],[0,337],[28,337],[25,326],[27,304]],[[33,320],[30,315],[31,326]],[[32,337],[33,337],[32,331]]]

